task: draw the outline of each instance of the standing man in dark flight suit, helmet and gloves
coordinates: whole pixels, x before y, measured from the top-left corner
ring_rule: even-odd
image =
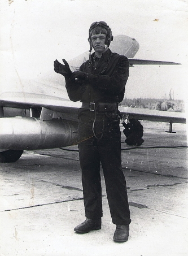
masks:
[[[129,237],[131,220],[126,181],[121,167],[117,104],[124,98],[129,62],[125,56],[108,49],[113,36],[104,21],[91,24],[88,40],[89,60],[81,65],[79,71],[72,73],[64,59],[65,65],[58,60],[54,62],[55,72],[65,77],[69,98],[82,102],[78,111],[78,149],[86,220],[74,230],[88,233],[101,228],[101,163],[112,222],[116,224],[113,240],[125,242]]]

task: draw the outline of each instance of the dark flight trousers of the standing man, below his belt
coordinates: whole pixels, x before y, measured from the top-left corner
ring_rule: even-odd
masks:
[[[121,167],[121,133],[119,122],[111,122],[104,114],[94,116],[80,115],[78,144],[82,186],[84,193],[85,216],[99,219],[102,211],[102,188],[100,182],[100,163],[102,164],[106,193],[112,222],[116,225],[129,225],[130,210],[126,191],[126,180]],[[101,131],[103,132],[102,138]]]

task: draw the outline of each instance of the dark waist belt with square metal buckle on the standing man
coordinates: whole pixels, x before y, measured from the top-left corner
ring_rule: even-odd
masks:
[[[117,102],[112,102],[112,103],[95,103],[95,102],[82,102],[82,108],[83,109],[89,109],[90,111],[95,111],[97,108],[100,112],[110,112],[117,110]]]

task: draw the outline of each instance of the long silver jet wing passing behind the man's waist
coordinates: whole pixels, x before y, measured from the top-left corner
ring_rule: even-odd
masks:
[[[40,109],[45,107],[51,111],[77,114],[81,102],[71,102],[69,99],[47,97],[36,93],[3,93],[0,96],[0,106],[17,109]],[[186,123],[186,114],[182,112],[168,112],[133,107],[119,106],[121,114],[129,118],[168,123]]]

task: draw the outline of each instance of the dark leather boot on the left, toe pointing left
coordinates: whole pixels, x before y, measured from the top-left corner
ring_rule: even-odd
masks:
[[[91,230],[98,230],[100,228],[101,228],[101,219],[92,220],[92,219],[86,218],[84,222],[82,222],[80,225],[77,225],[74,231],[80,234],[85,234],[90,232]]]

